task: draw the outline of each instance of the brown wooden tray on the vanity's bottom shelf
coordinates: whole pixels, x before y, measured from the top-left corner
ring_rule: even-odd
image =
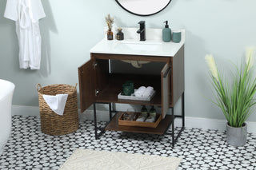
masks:
[[[142,122],[142,121],[135,121],[141,113],[134,113],[135,118],[134,121],[124,121],[123,116],[125,113],[118,118],[118,125],[122,126],[138,126],[138,127],[145,127],[145,128],[156,128],[161,121],[161,114],[157,114],[155,122]]]

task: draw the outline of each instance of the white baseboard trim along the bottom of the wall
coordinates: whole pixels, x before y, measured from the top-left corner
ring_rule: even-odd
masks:
[[[39,108],[35,106],[22,106],[13,105],[12,115],[22,115],[23,117],[36,116],[39,117]],[[94,111],[86,110],[84,113],[80,114],[79,118],[82,121],[94,120]],[[109,121],[109,112],[107,111],[97,111],[97,121]],[[256,133],[256,122],[246,121],[248,132]],[[182,119],[177,118],[174,121],[175,126],[182,126]],[[217,129],[219,131],[226,130],[226,120],[219,119],[209,119],[202,117],[185,117],[186,128],[202,128],[202,129]]]

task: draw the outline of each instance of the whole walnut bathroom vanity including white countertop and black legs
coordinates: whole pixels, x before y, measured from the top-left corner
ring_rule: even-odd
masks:
[[[133,33],[132,29],[126,30],[125,35]],[[154,31],[160,34],[160,30]],[[90,60],[78,68],[81,112],[84,112],[94,105],[95,137],[98,139],[107,130],[122,132],[140,132],[162,135],[172,125],[172,144],[184,128],[184,42],[185,31],[182,31],[182,41],[179,43],[162,42],[157,38],[148,36],[146,42],[139,42],[136,38],[124,41],[107,41],[104,38],[90,50]],[[129,38],[129,37],[128,37]],[[161,64],[159,73],[143,74],[138,73],[111,73],[110,61],[150,61]],[[142,63],[143,63],[142,62]],[[139,69],[138,69],[139,70]],[[126,81],[134,82],[134,89],[140,86],[152,86],[156,94],[150,101],[132,101],[118,99],[118,93],[122,91],[122,84]],[[174,106],[182,97],[182,115],[174,115]],[[104,128],[97,126],[96,103],[109,105],[110,122]],[[114,110],[113,105],[117,103],[132,105],[154,105],[162,108],[162,121],[156,128],[144,128],[118,125],[118,118],[121,112]],[[172,109],[172,114],[166,114]],[[115,113],[112,115],[112,113]],[[174,138],[174,118],[182,118],[182,129]],[[168,135],[168,134],[166,134]]]

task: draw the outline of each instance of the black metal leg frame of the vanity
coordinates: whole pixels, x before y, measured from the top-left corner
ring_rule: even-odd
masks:
[[[94,133],[95,133],[95,139],[98,140],[98,138],[100,136],[102,136],[102,134],[104,132],[106,132],[105,128],[106,128],[107,125],[110,124],[110,121],[107,122],[105,127],[98,127],[98,125],[97,125],[96,104],[108,104],[109,105],[110,121],[112,121],[112,119],[113,119],[112,113],[118,113],[118,111],[112,110],[112,105],[111,105],[112,103],[94,102]],[[185,128],[185,97],[184,97],[184,92],[182,93],[182,115],[174,115],[174,106],[170,107],[170,109],[172,109],[172,114],[171,114],[172,121],[170,122],[170,124],[166,128],[166,131],[164,132],[164,135],[171,135],[172,136],[172,147],[174,147],[174,144],[177,142],[178,137],[181,135],[182,131]],[[114,117],[115,116],[116,115],[114,115]],[[182,118],[182,128],[179,130],[178,135],[175,137],[175,134],[174,134],[174,120],[177,117]],[[168,129],[170,128],[170,125],[172,125],[172,131],[171,131],[171,133],[167,133]],[[100,132],[98,132],[98,130]]]

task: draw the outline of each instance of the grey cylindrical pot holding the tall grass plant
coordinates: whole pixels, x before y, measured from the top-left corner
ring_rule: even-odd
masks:
[[[246,144],[247,125],[241,128],[234,128],[226,123],[226,142],[234,147],[244,146]]]

